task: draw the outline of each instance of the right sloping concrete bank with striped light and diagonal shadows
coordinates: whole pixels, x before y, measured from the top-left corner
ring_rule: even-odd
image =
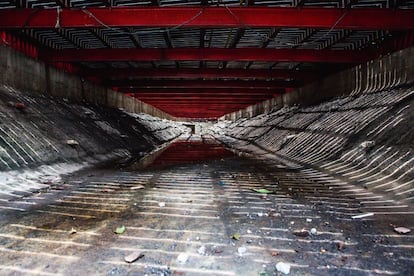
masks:
[[[220,139],[238,150],[254,153],[259,147],[290,165],[412,204],[413,121],[414,88],[406,87],[221,123],[215,135],[224,134]]]

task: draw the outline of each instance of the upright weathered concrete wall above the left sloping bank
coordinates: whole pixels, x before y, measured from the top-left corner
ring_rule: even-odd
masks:
[[[5,46],[0,46],[0,84],[22,91],[123,108],[131,113],[147,113],[159,118],[174,119],[144,102],[85,81],[79,76],[48,66]]]

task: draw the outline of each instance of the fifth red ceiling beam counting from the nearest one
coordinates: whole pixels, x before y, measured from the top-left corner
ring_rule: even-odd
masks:
[[[147,94],[163,94],[166,97],[168,95],[174,94],[194,94],[194,95],[201,95],[201,94],[245,94],[245,95],[259,95],[259,94],[282,94],[285,92],[285,89],[251,89],[251,88],[168,88],[168,89],[160,89],[160,88],[129,88],[129,87],[118,87],[117,90],[119,92],[124,93],[133,93],[140,95],[141,93]]]

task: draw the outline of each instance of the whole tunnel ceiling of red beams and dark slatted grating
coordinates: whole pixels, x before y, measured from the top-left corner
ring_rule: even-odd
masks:
[[[414,1],[0,1],[36,56],[171,115],[216,118],[414,45]]]

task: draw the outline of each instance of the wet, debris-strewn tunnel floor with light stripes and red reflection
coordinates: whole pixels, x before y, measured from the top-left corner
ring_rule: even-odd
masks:
[[[314,169],[180,143],[142,170],[0,196],[0,274],[264,276],[283,262],[290,275],[413,275],[414,236],[394,231],[412,211]]]

